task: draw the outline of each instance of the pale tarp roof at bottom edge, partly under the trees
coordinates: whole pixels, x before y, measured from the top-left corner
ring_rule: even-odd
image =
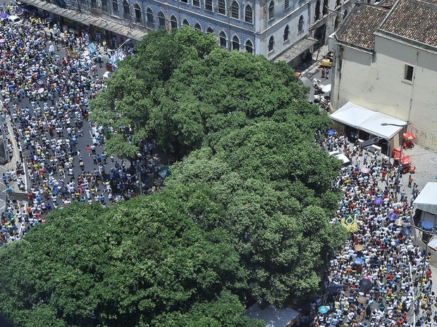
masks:
[[[291,309],[278,309],[276,307],[266,307],[261,309],[258,303],[255,303],[246,310],[245,316],[252,319],[261,319],[266,323],[266,327],[285,327],[288,326],[297,316],[299,312]]]

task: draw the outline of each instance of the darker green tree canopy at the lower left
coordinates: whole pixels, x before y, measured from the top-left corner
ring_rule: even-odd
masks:
[[[154,326],[218,307],[222,291],[240,283],[239,255],[226,233],[202,231],[182,208],[154,195],[54,212],[0,250],[2,309],[18,326],[61,327]],[[214,319],[250,326],[237,297],[224,294],[233,304]]]

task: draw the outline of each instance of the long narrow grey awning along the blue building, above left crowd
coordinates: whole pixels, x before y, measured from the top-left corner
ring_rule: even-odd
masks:
[[[147,34],[146,32],[142,32],[133,27],[127,27],[123,24],[116,23],[105,18],[95,17],[92,16],[90,13],[79,13],[78,11],[73,11],[71,9],[61,8],[59,6],[56,6],[55,4],[51,4],[46,1],[22,0],[22,2],[30,6],[44,9],[45,11],[49,11],[50,13],[54,13],[55,15],[60,15],[64,18],[75,20],[76,22],[82,23],[83,25],[94,25],[102,28],[103,30],[108,30],[110,32],[128,37],[130,39],[134,39],[135,41],[140,41],[140,39],[144,37],[145,34]]]

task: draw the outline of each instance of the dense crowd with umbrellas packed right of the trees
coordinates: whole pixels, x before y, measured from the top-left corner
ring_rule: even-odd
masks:
[[[398,167],[384,155],[367,152],[344,135],[319,134],[317,145],[341,150],[350,159],[335,186],[343,198],[332,223],[350,231],[326,272],[325,297],[312,303],[315,326],[437,326],[429,253],[410,238],[409,201],[396,185]],[[400,191],[400,192],[399,192]],[[419,294],[419,295],[418,295]],[[437,310],[436,310],[437,314]]]

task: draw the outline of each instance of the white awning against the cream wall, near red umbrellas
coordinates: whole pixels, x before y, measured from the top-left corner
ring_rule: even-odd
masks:
[[[390,140],[398,134],[400,129],[407,124],[403,120],[390,117],[377,111],[369,110],[367,108],[355,105],[352,102],[348,102],[336,112],[331,114],[331,119],[348,126],[361,129],[369,134],[379,136],[383,139]],[[382,126],[386,123],[388,125]],[[400,126],[393,126],[390,124],[396,124]]]

